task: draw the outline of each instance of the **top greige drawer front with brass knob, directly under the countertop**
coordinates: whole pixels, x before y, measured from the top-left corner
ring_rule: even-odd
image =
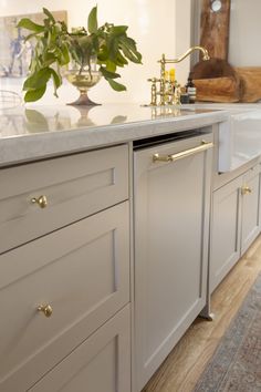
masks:
[[[0,254],[127,198],[127,145],[0,169]]]

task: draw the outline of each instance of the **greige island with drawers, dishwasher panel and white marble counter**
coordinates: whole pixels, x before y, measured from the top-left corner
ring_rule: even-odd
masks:
[[[208,316],[211,187],[229,115],[197,105],[2,113],[0,389],[139,391]]]

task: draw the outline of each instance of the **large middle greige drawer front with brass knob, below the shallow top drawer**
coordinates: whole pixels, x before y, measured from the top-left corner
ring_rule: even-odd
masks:
[[[3,254],[0,270],[0,391],[14,392],[129,301],[128,203]]]

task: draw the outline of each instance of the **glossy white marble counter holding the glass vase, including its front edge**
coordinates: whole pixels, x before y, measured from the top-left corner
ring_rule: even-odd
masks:
[[[19,106],[0,112],[0,166],[138,138],[208,126],[228,120],[223,107],[137,104]]]

